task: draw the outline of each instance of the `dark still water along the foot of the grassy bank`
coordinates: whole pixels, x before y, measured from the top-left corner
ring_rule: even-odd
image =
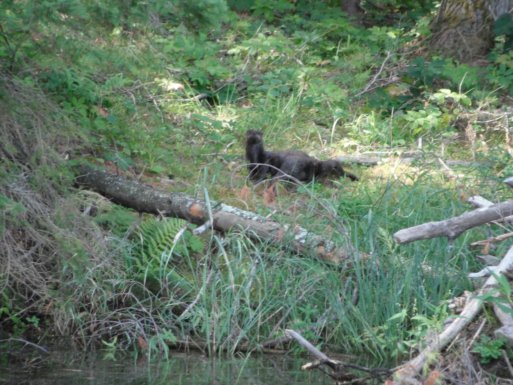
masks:
[[[319,371],[301,371],[307,359],[255,355],[211,358],[198,353],[170,352],[169,360],[140,363],[125,357],[112,360],[103,351],[0,351],[0,384],[107,385],[107,384],[214,384],[318,385],[333,380]]]

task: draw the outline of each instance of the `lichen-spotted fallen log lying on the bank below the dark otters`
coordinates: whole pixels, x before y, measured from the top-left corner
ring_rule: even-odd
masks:
[[[75,175],[79,185],[97,191],[113,203],[133,208],[139,213],[181,218],[200,226],[210,223],[214,230],[221,232],[239,229],[252,239],[264,239],[300,254],[314,255],[326,262],[346,261],[351,257],[348,250],[354,249],[348,239],[342,245],[340,242],[311,234],[299,226],[269,221],[249,211],[205,201],[181,192],[156,190],[86,165],[76,167]]]

